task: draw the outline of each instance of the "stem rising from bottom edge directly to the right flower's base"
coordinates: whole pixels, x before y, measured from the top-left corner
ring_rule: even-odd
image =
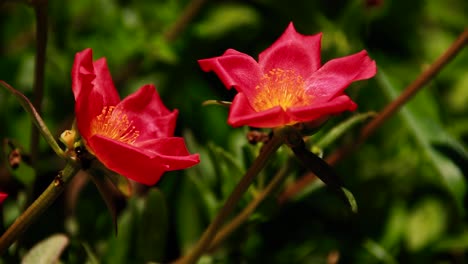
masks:
[[[263,147],[260,155],[254,161],[249,170],[245,173],[244,177],[237,184],[236,188],[232,191],[231,195],[228,197],[227,201],[224,203],[224,206],[219,211],[218,215],[215,217],[213,222],[208,226],[208,228],[203,233],[198,243],[195,247],[184,257],[177,260],[177,264],[191,264],[195,263],[198,258],[208,249],[211,244],[211,241],[215,237],[218,229],[225,222],[226,218],[229,217],[231,212],[234,210],[237,202],[240,200],[242,195],[247,191],[248,187],[258,175],[258,173],[265,167],[268,159],[276,152],[276,150],[284,143],[285,135],[289,131],[289,127],[280,128],[273,131],[273,137],[270,141]]]

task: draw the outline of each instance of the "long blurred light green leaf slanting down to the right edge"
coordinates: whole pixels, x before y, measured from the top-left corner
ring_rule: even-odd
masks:
[[[379,68],[376,79],[389,99],[393,100],[397,97],[399,91],[390,83],[382,67]],[[442,129],[437,120],[438,117],[435,116],[437,107],[430,97],[425,95],[424,90],[420,91],[417,98],[401,109],[399,116],[413,135],[428,164],[439,177],[436,180],[449,191],[458,209],[463,212],[463,199],[466,191],[463,174],[451,160],[441,155],[432,146],[432,142],[440,142],[452,137]]]

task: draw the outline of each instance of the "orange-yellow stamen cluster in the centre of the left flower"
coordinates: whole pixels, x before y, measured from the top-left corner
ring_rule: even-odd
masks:
[[[122,143],[133,144],[140,135],[133,121],[115,106],[104,106],[101,114],[91,121],[91,135],[101,135]]]

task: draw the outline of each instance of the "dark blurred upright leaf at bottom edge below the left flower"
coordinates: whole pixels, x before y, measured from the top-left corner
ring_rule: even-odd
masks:
[[[166,249],[169,216],[166,199],[158,189],[151,188],[147,193],[137,228],[136,255],[138,262],[161,262]]]

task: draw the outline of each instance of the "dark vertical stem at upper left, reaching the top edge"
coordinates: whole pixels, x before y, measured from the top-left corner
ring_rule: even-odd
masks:
[[[36,14],[36,58],[34,66],[33,105],[39,115],[44,98],[44,73],[47,47],[47,0],[34,1]],[[34,164],[39,151],[39,131],[35,126],[31,128],[31,161]]]

